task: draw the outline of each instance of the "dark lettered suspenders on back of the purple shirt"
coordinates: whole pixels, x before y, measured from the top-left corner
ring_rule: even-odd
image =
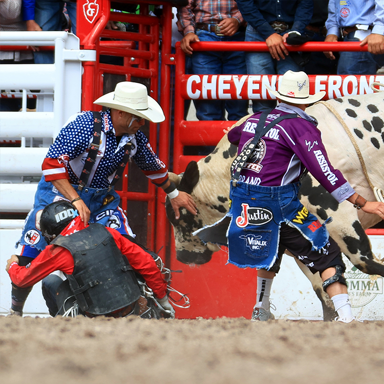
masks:
[[[273,110],[273,109],[272,109]],[[288,115],[280,116],[277,119],[274,119],[271,121],[269,124],[265,125],[265,120],[267,119],[268,115],[272,112],[271,111],[266,111],[263,112],[260,115],[259,123],[257,127],[254,130],[254,137],[251,142],[248,143],[241,152],[239,156],[236,157],[236,159],[233,160],[232,165],[231,165],[231,175],[232,175],[232,185],[236,186],[236,184],[239,181],[240,178],[240,173],[251,156],[254,148],[256,147],[258,141],[276,124],[279,124],[280,121],[285,120],[285,119],[293,119],[297,117],[297,114],[295,113],[290,113]]]

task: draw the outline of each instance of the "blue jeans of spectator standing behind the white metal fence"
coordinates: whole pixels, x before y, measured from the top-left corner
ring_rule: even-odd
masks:
[[[35,22],[43,31],[62,30],[62,10],[66,2],[61,0],[36,0]],[[72,23],[72,33],[76,34],[76,3],[67,2],[67,11]],[[54,53],[34,52],[36,64],[53,64]]]

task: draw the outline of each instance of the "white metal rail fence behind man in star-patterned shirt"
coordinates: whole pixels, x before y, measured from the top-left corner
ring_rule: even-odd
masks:
[[[2,32],[0,45],[2,50],[54,46],[54,64],[0,66],[3,95],[23,100],[21,111],[0,112],[0,140],[21,143],[0,147],[0,212],[26,212],[33,205],[46,147],[81,109],[81,61],[94,61],[96,51],[80,50],[79,38],[67,32]],[[35,112],[27,112],[27,97],[36,98]],[[9,225],[2,220],[0,228]]]

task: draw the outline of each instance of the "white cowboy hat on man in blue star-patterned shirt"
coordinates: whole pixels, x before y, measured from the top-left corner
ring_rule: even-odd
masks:
[[[121,81],[116,84],[114,92],[99,97],[94,104],[129,112],[154,123],[165,120],[161,106],[148,96],[146,87],[138,82]]]

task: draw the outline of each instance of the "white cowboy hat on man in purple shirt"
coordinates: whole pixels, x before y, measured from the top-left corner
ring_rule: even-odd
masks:
[[[278,99],[292,104],[312,104],[321,100],[326,94],[325,91],[309,94],[309,78],[305,72],[287,71],[281,79],[279,91],[265,87]]]

